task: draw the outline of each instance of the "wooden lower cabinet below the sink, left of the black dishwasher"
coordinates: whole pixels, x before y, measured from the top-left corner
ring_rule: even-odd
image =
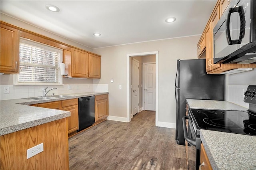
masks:
[[[58,109],[63,111],[70,111],[68,119],[68,133],[78,130],[78,99],[68,99],[63,101],[53,101],[47,103],[40,103],[31,106],[44,107],[48,109]]]

